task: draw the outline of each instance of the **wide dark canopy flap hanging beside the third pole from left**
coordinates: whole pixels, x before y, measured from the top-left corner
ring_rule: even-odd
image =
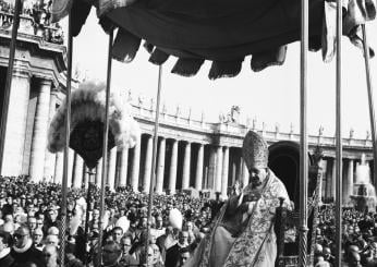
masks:
[[[141,38],[124,28],[119,28],[112,46],[112,58],[121,62],[131,62],[141,46]]]

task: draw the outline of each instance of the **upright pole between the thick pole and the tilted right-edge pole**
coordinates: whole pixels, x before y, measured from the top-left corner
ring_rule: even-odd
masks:
[[[337,166],[336,166],[336,266],[341,266],[342,260],[342,109],[341,109],[341,82],[342,82],[342,1],[337,0]]]

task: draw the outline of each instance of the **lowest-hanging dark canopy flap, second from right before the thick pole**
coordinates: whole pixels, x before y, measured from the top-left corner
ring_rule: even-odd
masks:
[[[208,77],[216,80],[219,77],[234,77],[241,72],[243,59],[232,61],[214,61],[210,66]]]

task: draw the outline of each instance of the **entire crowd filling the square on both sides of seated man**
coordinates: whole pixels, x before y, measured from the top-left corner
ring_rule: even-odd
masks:
[[[59,264],[61,186],[34,184],[27,178],[0,178],[0,266],[56,267]],[[87,198],[89,196],[89,198]],[[85,199],[88,199],[86,203]],[[220,201],[186,193],[156,195],[149,245],[148,195],[130,187],[106,192],[104,224],[99,220],[99,190],[92,185],[68,195],[65,266],[97,266],[98,235],[102,227],[102,266],[182,266],[210,231]],[[88,216],[86,216],[86,207]],[[180,218],[172,217],[172,210]],[[86,220],[86,218],[88,218]],[[315,266],[335,264],[333,205],[324,205],[318,217]],[[182,221],[180,221],[182,220]],[[87,234],[85,234],[87,226]],[[343,265],[377,266],[377,216],[343,210]],[[147,255],[146,255],[147,253]]]

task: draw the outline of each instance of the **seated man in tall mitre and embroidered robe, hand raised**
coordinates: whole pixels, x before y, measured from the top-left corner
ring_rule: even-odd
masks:
[[[276,208],[280,206],[280,197],[287,207],[290,199],[283,183],[267,166],[268,146],[263,137],[250,131],[242,149],[250,184],[221,207],[212,231],[185,267],[275,266]]]

